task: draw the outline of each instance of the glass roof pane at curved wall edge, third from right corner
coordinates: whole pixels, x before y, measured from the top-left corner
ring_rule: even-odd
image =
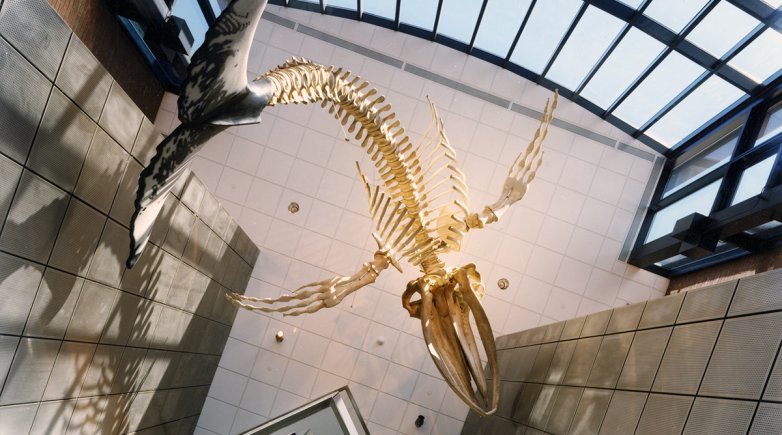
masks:
[[[581,95],[607,109],[664,48],[663,43],[646,33],[630,29]]]

